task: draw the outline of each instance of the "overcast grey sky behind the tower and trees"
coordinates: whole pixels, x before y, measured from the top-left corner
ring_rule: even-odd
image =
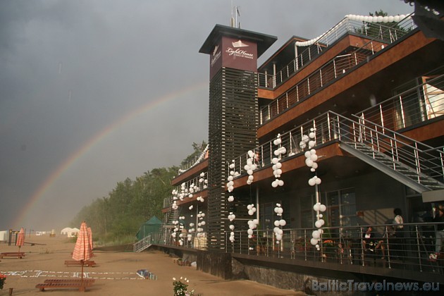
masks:
[[[278,36],[264,58],[349,13],[412,11],[397,0],[235,5],[242,28]],[[209,59],[198,51],[229,18],[230,1],[2,1],[0,230],[68,226],[118,181],[178,165],[206,140]]]

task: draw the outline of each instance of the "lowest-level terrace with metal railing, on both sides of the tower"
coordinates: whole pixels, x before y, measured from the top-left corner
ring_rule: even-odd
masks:
[[[403,278],[444,283],[444,253],[436,253],[436,227],[443,223],[378,224],[367,226],[323,227],[319,249],[312,245],[317,228],[281,229],[280,240],[273,230],[234,231],[234,241],[223,252],[255,265],[276,264],[306,266],[336,272],[364,273],[383,278]],[[397,229],[402,226],[402,229]],[[365,233],[371,227],[371,238]],[[226,233],[226,240],[230,233]],[[178,238],[169,233],[149,236],[150,245],[189,249],[206,249],[206,235],[192,233],[178,246]],[[290,267],[291,268],[291,267]]]

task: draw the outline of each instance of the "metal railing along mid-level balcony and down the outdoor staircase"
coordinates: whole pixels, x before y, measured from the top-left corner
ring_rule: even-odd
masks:
[[[308,138],[310,132],[314,135],[313,140],[316,142],[316,146],[331,141],[339,141],[346,142],[357,149],[357,144],[365,144],[366,147],[373,149],[375,159],[376,152],[385,154],[387,159],[391,159],[390,166],[393,170],[396,171],[397,164],[400,163],[412,168],[412,172],[417,173],[418,183],[424,181],[424,178],[420,178],[420,175],[428,175],[436,180],[443,180],[443,147],[431,147],[388,128],[383,128],[376,123],[362,120],[362,118],[353,121],[332,111],[328,111],[289,132],[281,134],[281,143],[277,146],[271,140],[253,149],[254,152],[259,152],[258,168],[273,163],[272,159],[277,157],[274,155],[274,151],[278,147],[285,147],[286,149],[286,153],[279,156],[281,159],[302,154],[306,148],[302,148],[301,144],[304,144],[304,139]],[[235,165],[234,168],[228,168],[228,170],[234,170],[235,175],[244,175],[247,159],[249,159],[249,155],[246,152],[234,161],[228,161],[228,167],[230,164]]]

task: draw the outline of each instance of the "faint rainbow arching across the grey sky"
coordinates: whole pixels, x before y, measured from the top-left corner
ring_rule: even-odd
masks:
[[[138,116],[142,115],[143,113],[146,113],[147,111],[155,108],[156,106],[159,106],[162,103],[165,103],[167,101],[171,101],[173,99],[176,99],[178,97],[183,97],[187,94],[190,94],[192,92],[196,92],[198,90],[204,89],[204,87],[208,86],[208,82],[199,82],[198,84],[192,85],[190,87],[185,87],[181,90],[178,90],[177,92],[171,92],[166,94],[164,97],[159,97],[155,99],[154,101],[149,101],[148,104],[142,106],[142,108],[137,108],[134,111],[130,111],[125,116],[122,116],[117,121],[114,121],[111,123],[111,125],[107,126],[100,132],[98,132],[96,135],[90,138],[85,144],[80,147],[76,152],[71,154],[68,159],[63,161],[63,163],[56,168],[55,171],[49,175],[49,177],[40,185],[37,190],[32,194],[28,202],[23,206],[22,210],[18,215],[16,215],[15,221],[13,221],[13,226],[20,226],[23,219],[27,215],[27,213],[32,209],[32,206],[35,205],[35,203],[44,195],[47,190],[53,185],[60,176],[72,166],[75,161],[78,161],[85,153],[87,153],[92,147],[97,145],[101,140],[104,140],[105,137],[111,134],[114,130],[117,130],[122,125],[125,125],[125,123],[128,123],[133,118],[137,118]]]

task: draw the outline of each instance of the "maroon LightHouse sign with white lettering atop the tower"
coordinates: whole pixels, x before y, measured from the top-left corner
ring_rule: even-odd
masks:
[[[257,72],[257,44],[223,36],[210,54],[210,79],[221,67]]]

